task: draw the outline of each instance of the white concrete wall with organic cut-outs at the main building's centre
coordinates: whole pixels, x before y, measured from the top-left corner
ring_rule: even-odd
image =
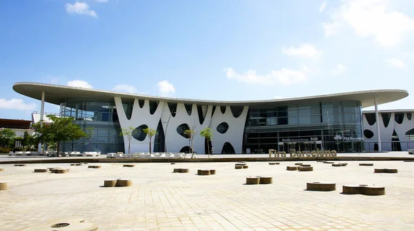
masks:
[[[244,124],[246,122],[246,116],[248,112],[248,107],[244,107],[242,114],[235,118],[233,113],[230,111],[230,107],[226,107],[226,112],[221,113],[220,108],[216,107],[214,115],[213,106],[202,106],[201,110],[204,115],[204,122],[200,123],[197,104],[192,105],[192,112],[188,115],[186,107],[183,103],[177,104],[175,116],[171,115],[170,109],[168,108],[167,102],[159,102],[157,111],[153,115],[150,114],[149,110],[149,101],[145,100],[144,107],[139,107],[138,100],[135,99],[134,106],[132,108],[132,115],[130,120],[126,117],[124,107],[122,106],[122,100],[119,97],[115,97],[115,105],[117,106],[117,113],[119,118],[119,123],[121,127],[128,128],[132,126],[137,128],[142,124],[146,124],[152,129],[157,129],[159,120],[164,129],[164,136],[166,137],[166,151],[167,152],[178,152],[184,146],[188,146],[188,139],[182,137],[177,133],[177,127],[181,124],[188,124],[188,126],[196,131],[196,135],[193,140],[194,151],[197,153],[204,154],[204,137],[199,135],[199,132],[206,128],[210,127],[213,130],[213,147],[215,153],[221,153],[223,145],[225,142],[229,142],[233,148],[235,148],[235,153],[242,153],[242,144],[243,144],[243,133],[244,133]],[[168,121],[169,120],[169,121]],[[228,131],[221,134],[217,131],[217,125],[221,122],[226,122],[228,124]],[[124,137],[125,151],[128,153],[128,139]],[[149,138],[146,137],[144,141],[131,140],[131,153],[141,153],[148,152]],[[153,144],[152,144],[153,150]]]

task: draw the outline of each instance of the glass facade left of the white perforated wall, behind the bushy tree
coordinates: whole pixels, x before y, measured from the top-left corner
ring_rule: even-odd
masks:
[[[131,111],[131,102],[125,102],[127,112]],[[124,138],[119,137],[120,125],[115,102],[100,102],[84,98],[67,99],[60,105],[61,117],[75,118],[83,131],[93,127],[93,135],[88,140],[82,138],[72,142],[62,142],[61,151],[98,151],[101,153],[124,152]]]

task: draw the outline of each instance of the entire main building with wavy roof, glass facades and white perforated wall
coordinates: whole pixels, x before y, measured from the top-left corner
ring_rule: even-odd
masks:
[[[60,105],[60,116],[72,117],[83,129],[94,128],[92,139],[64,142],[62,151],[128,152],[121,128],[134,129],[130,152],[148,152],[143,132],[157,131],[155,152],[207,153],[204,137],[195,135],[189,147],[184,135],[209,127],[215,153],[278,151],[364,151],[362,108],[405,98],[403,90],[357,91],[324,96],[259,101],[188,100],[121,94],[41,83],[16,83],[14,90],[42,102]]]

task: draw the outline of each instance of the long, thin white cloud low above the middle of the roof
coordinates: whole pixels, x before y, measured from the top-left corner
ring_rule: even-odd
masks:
[[[282,68],[277,71],[270,71],[270,74],[264,76],[256,74],[254,70],[248,70],[243,74],[238,74],[235,69],[229,67],[224,68],[226,76],[229,79],[237,80],[238,82],[259,85],[273,85],[276,83],[282,85],[293,85],[302,83],[308,79],[308,72],[311,72],[308,67],[302,67],[299,71]]]

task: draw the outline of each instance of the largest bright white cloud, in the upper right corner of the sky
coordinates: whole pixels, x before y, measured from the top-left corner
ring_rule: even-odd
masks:
[[[389,11],[387,0],[346,0],[333,12],[332,22],[322,23],[326,36],[337,34],[349,25],[356,36],[373,36],[381,46],[401,43],[414,30],[414,19],[402,12]]]

